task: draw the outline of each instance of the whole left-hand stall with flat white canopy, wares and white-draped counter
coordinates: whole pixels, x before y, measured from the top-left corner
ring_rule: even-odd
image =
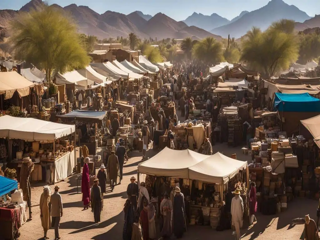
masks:
[[[30,157],[35,163],[33,180],[44,180],[45,176],[49,183],[59,182],[70,176],[75,166],[74,132],[73,125],[1,116],[0,138],[5,139],[9,153],[5,164],[13,165],[20,172],[22,158]]]

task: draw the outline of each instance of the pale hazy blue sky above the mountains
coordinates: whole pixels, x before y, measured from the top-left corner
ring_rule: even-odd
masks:
[[[0,0],[0,9],[19,10],[29,0]],[[162,12],[175,20],[184,20],[193,12],[211,15],[213,12],[229,20],[242,11],[253,11],[266,5],[269,0],[49,0],[49,4],[64,7],[69,4],[89,6],[98,13],[108,10],[128,14],[139,10],[154,15]],[[284,0],[314,17],[320,14],[320,0]]]

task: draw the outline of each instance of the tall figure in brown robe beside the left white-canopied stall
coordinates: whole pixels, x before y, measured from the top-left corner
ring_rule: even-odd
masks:
[[[31,172],[34,169],[34,164],[31,162],[30,157],[24,157],[23,163],[21,165],[20,170],[20,188],[22,189],[23,193],[23,201],[27,201],[28,209],[29,209],[29,220],[31,220],[32,212],[31,212],[31,188],[30,188],[30,181],[29,177]]]

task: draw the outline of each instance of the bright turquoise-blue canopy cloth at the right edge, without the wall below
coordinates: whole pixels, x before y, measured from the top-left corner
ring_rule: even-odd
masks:
[[[320,112],[320,100],[309,93],[276,92],[274,110],[279,112]]]

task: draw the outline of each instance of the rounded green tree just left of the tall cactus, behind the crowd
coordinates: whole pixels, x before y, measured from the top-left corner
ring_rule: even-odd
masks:
[[[223,59],[222,44],[213,37],[206,37],[196,43],[193,47],[193,53],[198,60],[209,65],[216,64]]]

